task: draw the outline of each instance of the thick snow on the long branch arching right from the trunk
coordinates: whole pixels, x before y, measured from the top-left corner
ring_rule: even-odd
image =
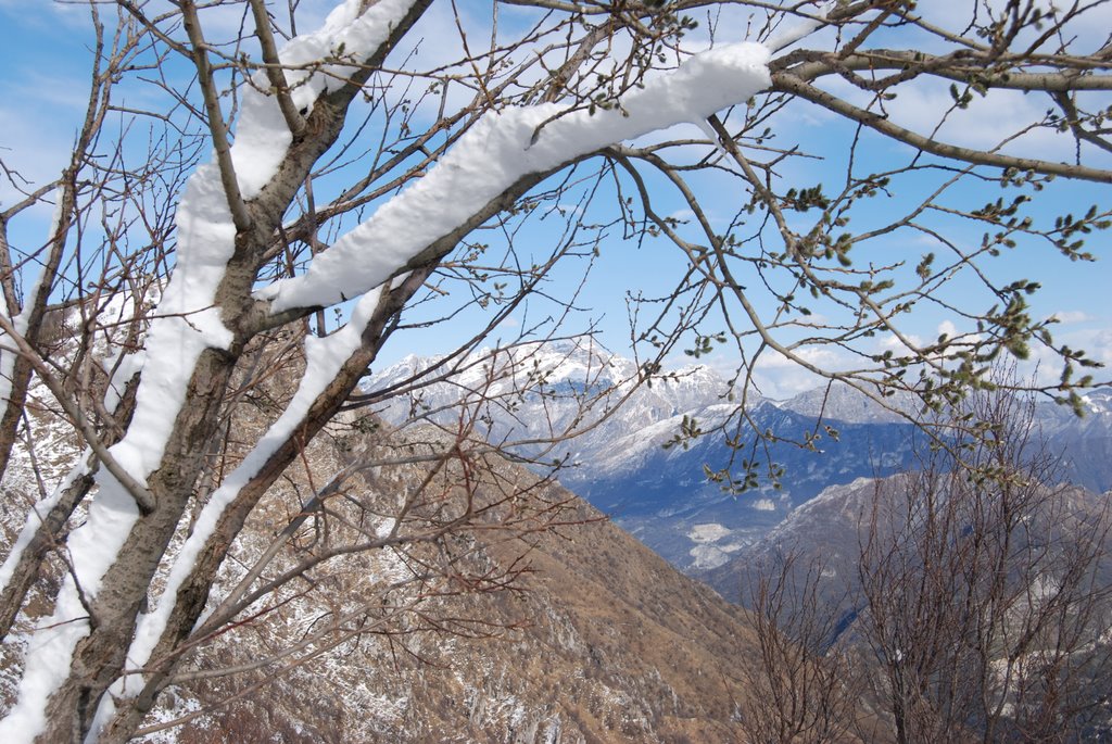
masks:
[[[558,103],[492,111],[428,173],[318,255],[306,274],[276,282],[258,296],[271,299],[275,311],[356,297],[465,225],[527,175],[744,103],[770,85],[768,57],[757,43],[717,47],[631,92],[619,109],[594,115]]]

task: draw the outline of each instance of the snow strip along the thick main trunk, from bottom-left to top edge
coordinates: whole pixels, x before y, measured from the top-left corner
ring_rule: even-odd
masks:
[[[359,0],[348,0],[319,31],[291,41],[282,61],[307,65],[337,54],[359,60],[383,43],[411,4],[410,0],[383,0],[360,14]],[[307,70],[295,81],[302,83],[295,92],[299,106],[310,107],[327,90],[331,76],[350,75],[354,69],[342,63],[326,68],[311,75]],[[266,77],[258,77],[260,88],[266,89]],[[245,88],[244,112],[231,148],[245,198],[257,196],[277,172],[291,141],[285,128],[276,101]],[[235,252],[236,227],[216,165],[202,166],[189,178],[177,227],[177,262],[147,338],[135,415],[125,437],[109,450],[140,484],[162,462],[201,354],[227,348],[232,340],[216,307],[216,292]],[[88,520],[68,540],[75,571],[64,579],[54,612],[34,635],[19,700],[0,722],[4,742],[29,742],[46,730],[48,701],[67,678],[78,643],[89,634],[88,603],[139,517],[135,500],[111,474],[101,469],[98,484]]]

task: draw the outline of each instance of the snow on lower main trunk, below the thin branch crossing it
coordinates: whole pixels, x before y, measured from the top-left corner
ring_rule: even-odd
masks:
[[[178,262],[148,334],[135,415],[125,437],[109,450],[140,483],[162,459],[201,353],[226,346],[231,337],[211,307],[235,247],[235,227],[215,166],[202,166],[190,177],[177,221]],[[67,543],[80,592],[89,598],[139,516],[132,497],[107,468],[98,472],[97,483],[89,518]],[[73,576],[67,576],[54,612],[30,644],[19,701],[0,722],[0,741],[31,741],[46,726],[47,700],[66,678],[73,648],[89,632],[78,592]]]

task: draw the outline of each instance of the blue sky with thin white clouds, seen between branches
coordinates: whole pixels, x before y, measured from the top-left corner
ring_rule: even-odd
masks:
[[[319,0],[312,4],[304,3],[312,16],[319,18],[330,4]],[[477,10],[473,20],[476,28],[483,23],[481,3],[470,3]],[[470,7],[469,6],[469,7]],[[110,9],[105,9],[110,12]],[[228,28],[234,28],[236,17],[226,14],[224,19]],[[305,23],[306,21],[302,21]],[[455,42],[455,31],[450,14],[434,12],[426,22],[426,34],[430,42],[423,46],[423,53],[428,57],[447,54]],[[29,180],[41,183],[56,175],[64,163],[79,117],[83,111],[85,93],[88,89],[87,65],[89,53],[87,42],[87,10],[50,2],[26,2],[19,0],[0,0],[0,41],[3,44],[3,58],[8,75],[0,80],[0,150],[10,167],[17,168]],[[219,26],[215,28],[219,32]],[[138,95],[138,93],[136,93]],[[1007,126],[1031,112],[1043,103],[1019,93],[994,96],[992,100],[975,101],[970,110],[963,111],[946,125],[941,137],[964,145],[991,145],[999,140],[1001,132]],[[926,121],[936,117],[939,108],[945,106],[949,99],[946,86],[923,86],[910,91],[891,107],[892,117],[904,123]],[[776,121],[778,141],[783,145],[796,141],[805,142],[815,152],[826,156],[825,160],[796,160],[783,169],[784,176],[801,185],[823,182],[831,187],[844,179],[845,142],[852,137],[848,127],[833,120],[813,107],[798,106],[790,109]],[[693,129],[694,131],[694,129]],[[1044,157],[1055,152],[1060,157],[1069,157],[1061,138],[1036,132],[1012,146],[1013,148],[1034,148]],[[906,160],[909,152],[887,141],[876,138],[867,148],[863,148],[861,158],[875,160],[876,168],[891,167],[894,162]],[[888,217],[910,198],[910,191],[916,188],[929,188],[934,178],[911,179],[902,188],[906,189],[893,198],[878,198],[862,210],[860,221],[854,227],[868,225],[872,220]],[[736,186],[722,187],[709,179],[705,185],[705,205],[713,217],[722,220],[735,211],[737,205],[747,199],[748,195],[739,192]],[[1106,185],[1063,183],[1058,182],[1040,195],[1033,216],[1052,219],[1052,216],[1063,211],[1084,211],[1090,204],[1112,205],[1112,189]],[[950,199],[954,205],[977,206],[997,196],[1009,196],[999,187],[975,185],[963,187]],[[0,185],[0,201],[9,205],[16,198],[7,183]],[[657,209],[662,214],[683,216],[684,206],[662,189],[654,191],[658,198]],[[600,199],[602,204],[605,199]],[[567,205],[570,206],[570,205]],[[49,217],[47,208],[20,219],[12,227],[12,236],[17,239],[32,241],[34,236],[44,230]],[[600,212],[593,212],[594,219],[600,219]],[[801,224],[805,224],[811,215],[802,215]],[[940,226],[947,226],[954,235],[969,241],[980,239],[983,228],[980,226],[961,225],[961,220],[939,218]],[[539,221],[523,236],[535,246],[538,255],[559,237],[559,220],[555,216]],[[496,231],[480,234],[476,239],[486,241],[495,238]],[[995,277],[1031,278],[1041,281],[1044,289],[1033,302],[1036,315],[1056,315],[1062,323],[1056,338],[1072,346],[1090,350],[1094,357],[1112,364],[1112,311],[1109,310],[1108,288],[1112,285],[1112,270],[1109,269],[1109,235],[1098,235],[1090,238],[1089,250],[1099,260],[1095,264],[1072,262],[1061,256],[1053,255],[1044,245],[1034,241],[1021,242],[1015,250],[991,262],[987,270]],[[497,241],[490,240],[492,252],[497,251]],[[598,255],[595,258],[592,278],[584,287],[576,302],[583,308],[573,316],[570,329],[583,329],[593,323],[599,324],[605,343],[618,353],[628,349],[629,330],[627,324],[626,299],[631,292],[644,291],[653,296],[671,290],[672,282],[685,268],[679,252],[664,240],[646,240],[643,244],[623,241],[620,227],[604,231],[603,239],[597,244]],[[911,234],[898,235],[863,249],[863,255],[876,257],[876,260],[892,260],[893,257],[904,258],[915,262],[917,256],[931,246],[922,241],[922,236]],[[578,284],[578,267],[584,261],[573,262],[562,270],[553,281],[553,288],[563,292],[572,291]],[[960,298],[966,288],[960,282],[952,288]],[[510,337],[515,331],[539,317],[553,311],[553,306],[543,299],[532,301],[528,315],[519,315],[500,329],[500,335]],[[984,309],[977,301],[973,309]],[[397,337],[385,350],[381,363],[388,364],[408,353],[433,354],[446,350],[450,344],[464,334],[470,333],[480,323],[485,313],[475,310],[457,318],[433,331],[408,334]],[[418,317],[411,314],[409,317]],[[949,317],[939,309],[925,306],[912,319],[909,333],[922,338],[932,338],[940,328],[951,324],[960,328],[960,319]],[[713,330],[714,324],[707,326]],[[837,365],[836,358],[828,353],[822,360]],[[686,361],[682,355],[675,358],[677,364]],[[728,368],[733,357],[722,351],[707,359],[708,363]],[[771,359],[766,366],[762,383],[766,393],[773,397],[783,397],[808,386],[812,380],[800,370],[777,366]]]

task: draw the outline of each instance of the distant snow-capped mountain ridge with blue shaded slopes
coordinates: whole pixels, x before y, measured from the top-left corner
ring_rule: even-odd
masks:
[[[423,387],[408,408],[394,400],[379,408],[380,415],[397,423],[424,407],[438,411],[433,418],[443,423],[456,416],[449,407],[461,395],[478,399],[485,394],[498,403],[484,408],[480,433],[499,443],[528,440],[575,420],[583,394],[613,388],[594,411],[603,420],[583,436],[559,443],[544,459],[566,462],[564,485],[683,571],[726,563],[828,486],[885,476],[912,462],[914,425],[845,385],[816,388],[784,401],[755,394],[746,400],[754,430],[772,429],[796,440],[817,431],[814,450],[756,442],[755,450],[735,453],[721,433],[665,449],[685,421],[709,431],[735,410],[737,404],[729,400],[723,377],[691,366],[636,387],[641,369],[635,361],[585,343],[535,344],[492,354],[486,350],[456,361],[465,370],[458,380]],[[438,361],[407,357],[371,375],[365,389],[371,394],[388,389]],[[542,377],[545,396],[514,397],[515,386]],[[1040,403],[1035,424],[1052,450],[1064,454],[1065,477],[1100,493],[1112,487],[1112,390],[1093,390],[1085,401],[1090,415],[1083,419],[1061,406]],[[906,410],[911,404],[896,398],[893,407]],[[820,415],[837,429],[836,440],[817,426]],[[742,434],[742,442],[754,444],[752,430]],[[520,450],[536,454],[528,445]],[[732,457],[735,467],[746,457],[761,467],[770,459],[783,466],[781,487],[765,478],[758,488],[741,495],[724,493],[704,466],[717,470]]]

